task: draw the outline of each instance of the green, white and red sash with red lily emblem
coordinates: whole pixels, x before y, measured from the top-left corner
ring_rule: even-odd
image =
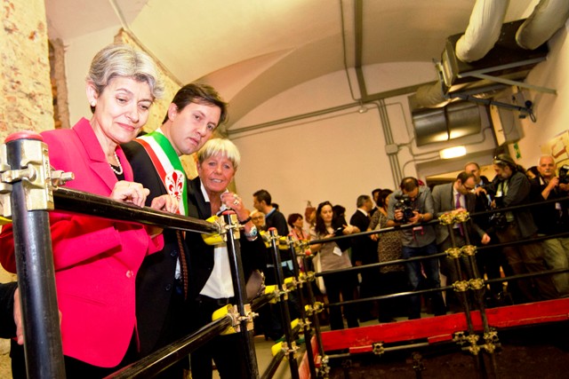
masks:
[[[187,216],[188,193],[186,175],[181,165],[180,157],[174,151],[172,144],[161,131],[153,131],[135,139],[150,157],[166,192],[179,202],[178,213]]]

